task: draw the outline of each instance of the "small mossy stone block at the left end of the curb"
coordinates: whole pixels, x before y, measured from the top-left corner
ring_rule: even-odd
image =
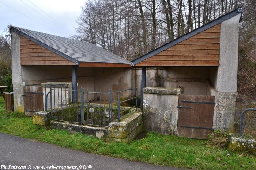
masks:
[[[49,126],[50,125],[50,113],[47,111],[40,111],[33,113],[33,124]]]

